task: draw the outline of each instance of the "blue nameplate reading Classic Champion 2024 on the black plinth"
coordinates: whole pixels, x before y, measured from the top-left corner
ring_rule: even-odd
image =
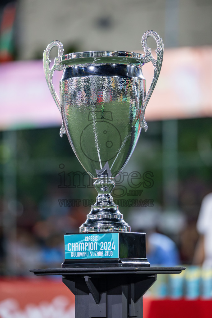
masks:
[[[119,233],[65,234],[65,259],[119,258]]]

